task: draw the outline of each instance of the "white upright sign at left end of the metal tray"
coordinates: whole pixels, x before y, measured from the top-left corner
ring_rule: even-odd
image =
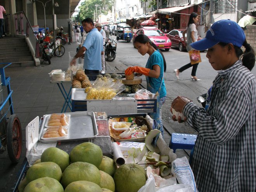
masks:
[[[37,116],[26,126],[26,148],[28,151],[36,144],[39,137],[39,117]]]

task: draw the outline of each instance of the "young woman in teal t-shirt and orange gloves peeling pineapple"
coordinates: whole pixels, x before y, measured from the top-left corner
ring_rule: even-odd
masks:
[[[151,93],[157,93],[157,112],[150,114],[150,116],[157,121],[163,135],[162,107],[166,100],[166,88],[164,84],[166,61],[162,52],[151,42],[148,36],[140,34],[135,38],[133,43],[141,55],[149,54],[149,59],[145,67],[128,67],[125,70],[125,74],[130,75],[134,72],[138,73],[138,76],[144,74],[147,80],[147,90]]]

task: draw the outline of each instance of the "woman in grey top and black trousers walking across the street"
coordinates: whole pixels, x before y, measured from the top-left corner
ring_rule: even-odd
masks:
[[[192,14],[190,14],[187,29],[185,31],[183,31],[183,33],[182,33],[188,52],[193,49],[193,48],[191,48],[190,44],[193,42],[196,42],[198,39],[197,27],[196,27],[196,24],[198,21],[199,21],[199,15],[197,13],[193,12]],[[186,40],[186,36],[185,36],[186,33],[187,33],[187,40]],[[180,67],[180,69],[174,69],[174,73],[175,73],[177,80],[180,80],[179,74],[182,71],[185,71],[186,69],[189,69],[190,67],[193,67],[192,72],[191,72],[191,80],[201,81],[200,79],[197,78],[197,76],[195,76],[197,66],[198,66],[198,63],[192,65],[190,62],[187,65]]]

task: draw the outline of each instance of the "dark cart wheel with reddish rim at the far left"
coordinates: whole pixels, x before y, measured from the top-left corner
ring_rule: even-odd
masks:
[[[22,133],[16,114],[11,115],[7,123],[7,150],[12,163],[18,163],[21,158]]]

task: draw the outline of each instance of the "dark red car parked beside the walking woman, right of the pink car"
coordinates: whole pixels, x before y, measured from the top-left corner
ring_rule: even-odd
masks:
[[[171,40],[171,46],[178,47],[180,51],[186,50],[185,41],[182,35],[184,30],[185,29],[173,29],[165,34]],[[185,37],[187,38],[187,33],[185,34]],[[197,41],[198,40],[200,40],[200,38],[198,38]]]

